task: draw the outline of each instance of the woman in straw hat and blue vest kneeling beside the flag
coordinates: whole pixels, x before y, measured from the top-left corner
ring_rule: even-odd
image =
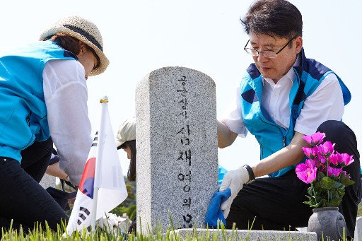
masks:
[[[97,26],[62,18],[40,40],[0,57],[0,228],[35,223],[52,230],[68,216],[38,182],[53,141],[59,164],[78,185],[91,148],[88,76],[109,64]],[[52,137],[50,137],[52,136]]]

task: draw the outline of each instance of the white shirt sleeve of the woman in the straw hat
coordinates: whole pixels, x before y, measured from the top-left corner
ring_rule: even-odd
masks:
[[[85,71],[76,60],[53,60],[45,64],[42,77],[49,130],[59,164],[78,185],[93,141]]]

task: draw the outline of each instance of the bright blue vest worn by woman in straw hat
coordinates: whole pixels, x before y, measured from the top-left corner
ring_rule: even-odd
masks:
[[[0,57],[0,156],[20,162],[23,149],[49,138],[42,72],[54,59],[77,57],[49,40]]]

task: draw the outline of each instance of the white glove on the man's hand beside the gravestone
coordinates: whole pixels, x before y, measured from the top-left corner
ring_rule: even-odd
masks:
[[[220,192],[224,192],[228,187],[231,190],[231,196],[228,200],[224,201],[221,204],[221,210],[223,211],[224,218],[228,217],[230,206],[233,203],[236,195],[243,188],[243,184],[249,181],[249,172],[247,172],[245,167],[239,167],[236,170],[230,170],[226,172],[226,175],[223,177],[223,182],[220,186]]]

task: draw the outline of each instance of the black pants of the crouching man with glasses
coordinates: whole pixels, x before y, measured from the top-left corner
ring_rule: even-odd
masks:
[[[327,121],[317,131],[326,134],[325,141],[336,143],[334,150],[339,153],[354,155],[354,163],[344,167],[355,184],[346,187],[339,211],[346,220],[346,235],[354,237],[358,204],[361,201],[361,172],[357,141],[354,132],[343,122]],[[239,229],[253,230],[295,230],[308,226],[308,219],[313,211],[303,201],[308,201],[305,184],[291,170],[282,177],[258,178],[251,184],[244,185],[233,201],[226,226],[233,223]]]

